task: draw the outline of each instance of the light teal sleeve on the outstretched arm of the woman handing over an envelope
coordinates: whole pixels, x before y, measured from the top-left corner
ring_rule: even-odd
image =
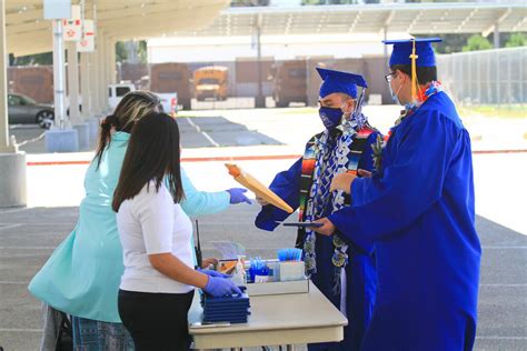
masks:
[[[212,214],[225,211],[229,207],[230,195],[227,191],[207,192],[196,190],[182,168],[181,184],[185,191],[181,208],[188,215]]]

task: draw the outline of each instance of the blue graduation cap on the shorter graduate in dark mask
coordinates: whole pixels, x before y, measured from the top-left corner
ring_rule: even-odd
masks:
[[[366,80],[360,74],[328,70],[320,67],[317,67],[317,71],[322,79],[319,92],[320,98],[325,98],[334,92],[342,92],[357,99],[357,86],[368,88]]]

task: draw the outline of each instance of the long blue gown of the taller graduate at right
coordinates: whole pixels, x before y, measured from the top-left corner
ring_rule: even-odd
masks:
[[[470,139],[444,92],[392,130],[382,172],[356,179],[329,220],[375,245],[378,289],[361,350],[470,350],[480,244]]]

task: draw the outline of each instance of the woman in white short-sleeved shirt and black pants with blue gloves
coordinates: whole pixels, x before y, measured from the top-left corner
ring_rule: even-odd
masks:
[[[227,275],[192,268],[183,197],[178,124],[165,113],[147,116],[132,128],[112,202],[125,261],[119,315],[138,351],[188,350],[195,287],[215,297],[240,293]]]

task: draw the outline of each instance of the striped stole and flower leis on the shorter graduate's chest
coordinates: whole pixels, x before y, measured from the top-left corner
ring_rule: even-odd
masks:
[[[300,178],[300,211],[299,220],[318,219],[331,201],[331,213],[349,205],[349,197],[342,191],[329,192],[329,183],[332,176],[344,172],[357,173],[360,157],[367,147],[368,137],[375,131],[365,124],[358,131],[357,124],[347,122],[344,131],[339,131],[337,144],[331,148],[327,144],[328,131],[316,134],[306,146],[302,159]],[[331,153],[331,154],[329,154]],[[317,271],[315,242],[316,233],[310,229],[300,228],[298,230],[296,247],[304,249],[304,260],[306,262],[306,274],[309,277]],[[340,271],[348,263],[348,245],[336,233],[332,237],[335,251],[331,262],[335,267],[335,290],[340,292]]]

